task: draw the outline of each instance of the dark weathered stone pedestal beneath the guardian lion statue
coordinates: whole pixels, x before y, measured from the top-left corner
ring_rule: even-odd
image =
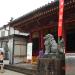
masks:
[[[65,55],[49,53],[38,60],[37,75],[65,75]]]

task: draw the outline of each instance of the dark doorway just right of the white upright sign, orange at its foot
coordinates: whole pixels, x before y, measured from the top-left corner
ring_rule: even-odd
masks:
[[[32,63],[35,63],[39,53],[39,32],[32,33]]]

